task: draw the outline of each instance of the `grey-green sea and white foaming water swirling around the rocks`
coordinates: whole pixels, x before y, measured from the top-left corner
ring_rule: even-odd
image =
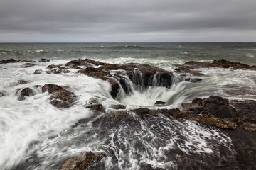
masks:
[[[0,64],[0,169],[58,169],[65,159],[85,152],[106,152],[104,169],[140,169],[142,164],[163,169],[193,167],[193,158],[220,162],[220,150],[232,157],[233,144],[218,128],[188,120],[137,118],[131,124],[113,127],[95,125],[104,113],[95,115],[85,104],[97,99],[106,111],[122,104],[126,111],[134,108],[179,108],[193,98],[211,95],[223,98],[256,100],[256,73],[247,69],[198,68],[201,81],[181,81],[175,69],[185,62],[213,62],[225,59],[256,65],[256,43],[1,43],[0,60],[33,60],[35,66],[24,68],[23,62]],[[50,62],[38,62],[42,58]],[[50,64],[70,60],[92,59],[110,64],[149,64],[173,72],[170,88],[151,86],[132,89],[130,94],[110,95],[110,84],[101,79],[74,74],[77,70],[47,74]],[[42,74],[33,74],[35,70]],[[21,80],[26,84],[21,84]],[[70,108],[55,108],[49,94],[36,86],[68,86],[78,96]],[[21,89],[33,89],[33,96],[19,101]],[[164,101],[164,106],[154,106]],[[171,153],[173,153],[172,156]],[[178,156],[177,156],[178,155]],[[187,157],[178,162],[175,157]],[[210,158],[214,158],[210,160]],[[191,165],[191,166],[190,166]],[[193,165],[193,166],[192,166]]]

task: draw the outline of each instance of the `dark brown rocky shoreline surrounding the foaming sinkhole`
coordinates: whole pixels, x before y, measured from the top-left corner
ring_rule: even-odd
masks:
[[[0,64],[12,62],[26,62],[24,68],[33,67],[36,62],[33,61],[16,61],[16,60],[2,60]],[[47,59],[41,59],[39,62],[49,62]],[[175,72],[181,74],[192,74],[199,78],[191,78],[183,75],[180,81],[201,81],[204,74],[195,70],[201,67],[220,67],[232,69],[249,69],[256,71],[256,66],[249,66],[247,64],[228,62],[227,60],[214,60],[212,63],[208,62],[186,62],[183,66],[175,69]],[[111,85],[110,94],[112,98],[118,98],[119,91],[124,90],[126,94],[131,93],[132,84],[139,91],[144,91],[149,86],[164,86],[170,88],[172,86],[171,79],[174,79],[172,72],[164,69],[159,69],[147,64],[107,64],[97,62],[90,59],[73,60],[63,65],[48,65],[47,74],[60,74],[68,73],[70,69],[76,69],[75,74],[85,74],[89,77],[102,79]],[[41,74],[40,70],[35,70],[34,74]],[[127,83],[128,79],[132,84]],[[19,84],[26,84],[26,81],[20,80]],[[48,92],[50,94],[50,103],[56,108],[65,109],[75,105],[75,101],[79,98],[75,91],[71,91],[68,86],[59,86],[58,84],[44,84],[38,85],[36,88],[41,89],[42,93]],[[26,87],[20,89],[18,100],[26,100],[26,97],[33,96],[33,89]],[[0,97],[4,93],[0,91]],[[157,106],[165,105],[166,103],[156,101]],[[85,108],[90,108],[95,111],[95,114],[102,117],[95,120],[92,124],[101,125],[105,128],[116,126],[119,123],[129,122],[132,124],[134,121],[134,114],[139,118],[144,116],[158,117],[160,115],[171,119],[185,119],[196,121],[206,126],[213,126],[220,129],[228,135],[233,142],[236,152],[236,164],[229,164],[228,162],[221,163],[226,166],[216,167],[217,169],[253,169],[256,167],[256,101],[252,100],[228,100],[220,96],[209,96],[208,98],[194,98],[191,103],[183,103],[181,110],[167,109],[167,108],[137,108],[129,110],[124,105],[114,105],[110,108],[104,108],[97,100],[90,101],[85,105]],[[92,153],[86,152],[82,157],[70,157],[63,164],[58,166],[58,169],[102,169],[101,159],[110,157],[110,152]],[[221,155],[220,155],[221,157]],[[177,156],[176,159],[181,159]],[[198,160],[196,163],[203,169],[212,167],[210,162],[206,160]],[[19,166],[19,167],[22,167]],[[183,166],[180,167],[181,169]],[[143,164],[141,169],[160,169],[154,168],[150,164]]]

